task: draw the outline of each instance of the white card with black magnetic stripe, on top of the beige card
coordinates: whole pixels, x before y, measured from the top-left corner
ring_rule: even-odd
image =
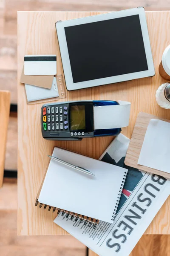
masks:
[[[25,55],[25,76],[51,76],[57,74],[56,55]]]

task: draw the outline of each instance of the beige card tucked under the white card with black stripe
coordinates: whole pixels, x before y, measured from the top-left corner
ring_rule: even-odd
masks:
[[[30,84],[42,88],[51,89],[54,76],[25,76],[24,66],[21,74],[20,82],[24,84]]]

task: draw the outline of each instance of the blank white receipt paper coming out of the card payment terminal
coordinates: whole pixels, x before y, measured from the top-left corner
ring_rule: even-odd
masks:
[[[94,130],[122,128],[129,125],[130,102],[94,107]]]

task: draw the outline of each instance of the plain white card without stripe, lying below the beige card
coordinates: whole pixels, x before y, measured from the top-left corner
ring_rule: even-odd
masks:
[[[56,77],[53,79],[51,89],[25,84],[27,101],[32,102],[40,99],[50,99],[59,96]]]

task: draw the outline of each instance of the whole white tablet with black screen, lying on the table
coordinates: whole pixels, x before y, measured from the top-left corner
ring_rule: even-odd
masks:
[[[143,7],[56,22],[68,90],[154,76]]]

